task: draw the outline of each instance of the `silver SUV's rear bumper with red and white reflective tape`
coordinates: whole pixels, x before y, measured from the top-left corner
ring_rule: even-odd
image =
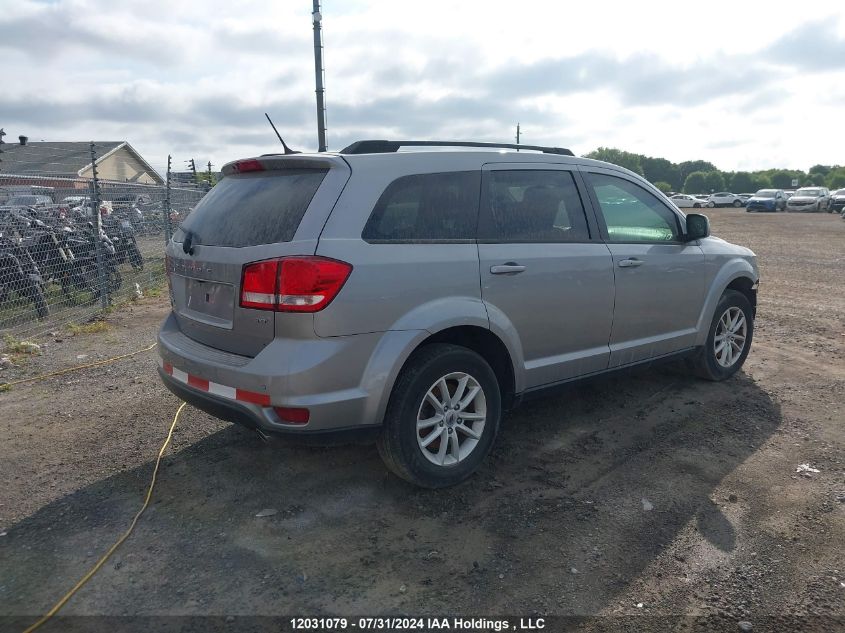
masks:
[[[279,338],[249,358],[188,338],[171,314],[159,331],[159,374],[186,402],[265,434],[372,428],[381,425],[395,375],[384,365],[401,358],[412,336]],[[285,422],[274,407],[308,409],[308,422]]]

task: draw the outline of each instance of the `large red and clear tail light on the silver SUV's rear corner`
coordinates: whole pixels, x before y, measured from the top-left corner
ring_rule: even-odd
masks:
[[[343,288],[352,266],[326,257],[282,257],[244,266],[241,307],[318,312]]]

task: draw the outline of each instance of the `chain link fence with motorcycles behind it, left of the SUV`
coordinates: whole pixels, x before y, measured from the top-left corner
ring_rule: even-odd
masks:
[[[102,179],[94,144],[91,165],[89,178],[0,172],[0,337],[37,338],[166,286],[165,244],[209,186],[170,171]]]

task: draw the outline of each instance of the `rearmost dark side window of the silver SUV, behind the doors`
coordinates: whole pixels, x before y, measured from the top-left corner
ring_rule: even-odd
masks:
[[[361,237],[368,242],[474,240],[479,172],[397,178],[376,202]]]

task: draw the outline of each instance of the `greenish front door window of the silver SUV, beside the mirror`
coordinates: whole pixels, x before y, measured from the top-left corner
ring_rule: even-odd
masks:
[[[678,218],[657,196],[623,178],[589,174],[611,242],[671,242]]]

